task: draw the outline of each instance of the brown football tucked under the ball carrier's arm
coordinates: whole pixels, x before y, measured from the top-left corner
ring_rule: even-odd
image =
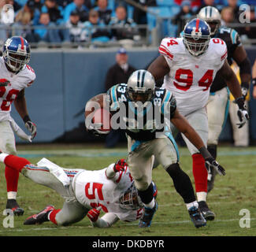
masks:
[[[97,109],[95,111],[92,122],[94,124],[99,124],[100,128],[98,130],[102,132],[108,132],[111,129],[110,126],[111,114],[106,109]]]

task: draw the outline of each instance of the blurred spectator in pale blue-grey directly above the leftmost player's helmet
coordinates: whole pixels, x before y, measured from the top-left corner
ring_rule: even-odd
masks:
[[[38,43],[40,40],[39,35],[35,34],[31,28],[32,17],[33,10],[29,8],[27,4],[25,4],[23,8],[18,11],[15,17],[15,24],[13,24],[13,35],[22,36],[27,39],[29,43]]]

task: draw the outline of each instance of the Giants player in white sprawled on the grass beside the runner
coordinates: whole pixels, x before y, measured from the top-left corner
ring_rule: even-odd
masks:
[[[95,171],[61,168],[46,158],[32,165],[25,158],[3,153],[0,161],[65,198],[62,209],[46,206],[28,217],[24,224],[51,221],[57,225],[69,225],[87,215],[94,227],[108,228],[119,220],[136,221],[143,215],[143,204],[124,159]],[[158,191],[154,183],[153,190],[156,197]],[[98,218],[100,209],[105,215]]]

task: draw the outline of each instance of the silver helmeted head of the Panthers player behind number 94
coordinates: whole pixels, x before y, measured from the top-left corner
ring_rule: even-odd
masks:
[[[213,6],[203,7],[199,13],[198,18],[205,20],[210,26],[210,35],[213,37],[221,26],[221,14]]]

